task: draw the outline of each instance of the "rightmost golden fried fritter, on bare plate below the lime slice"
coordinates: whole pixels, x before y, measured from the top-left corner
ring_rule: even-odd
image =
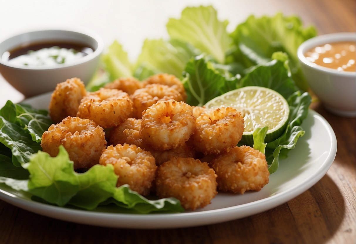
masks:
[[[265,154],[248,146],[235,147],[210,162],[218,175],[218,189],[243,194],[259,191],[269,181]]]

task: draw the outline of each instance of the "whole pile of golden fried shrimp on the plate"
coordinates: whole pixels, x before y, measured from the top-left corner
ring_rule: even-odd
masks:
[[[268,183],[264,154],[237,147],[244,118],[232,107],[190,106],[181,81],[158,74],[120,78],[87,92],[78,78],[52,93],[52,124],[41,147],[66,148],[74,170],[113,165],[117,186],[146,196],[175,197],[185,209],[208,205],[220,192],[259,191]]]

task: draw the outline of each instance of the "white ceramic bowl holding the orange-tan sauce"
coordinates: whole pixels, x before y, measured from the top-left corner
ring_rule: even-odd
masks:
[[[297,53],[310,88],[324,106],[337,115],[354,117],[356,116],[356,72],[325,68],[310,62],[304,56],[311,48],[341,41],[356,43],[356,33],[333,33],[311,38],[299,46]]]

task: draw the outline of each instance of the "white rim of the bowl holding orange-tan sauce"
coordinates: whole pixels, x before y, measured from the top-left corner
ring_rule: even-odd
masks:
[[[330,74],[337,74],[341,76],[356,76],[355,71],[339,71],[332,68],[323,67],[321,65],[315,64],[309,61],[305,56],[304,53],[311,48],[314,48],[321,44],[327,43],[334,43],[334,42],[347,42],[347,41],[355,41],[356,42],[356,33],[355,32],[337,32],[337,33],[330,33],[325,35],[316,36],[313,38],[308,39],[307,41],[300,44],[297,50],[297,55],[300,62],[308,65],[310,68],[321,70],[326,73]],[[355,81],[356,82],[356,81]]]

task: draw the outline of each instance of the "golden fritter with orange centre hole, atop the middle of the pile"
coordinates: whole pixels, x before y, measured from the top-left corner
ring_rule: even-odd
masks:
[[[158,101],[143,112],[141,137],[155,150],[177,148],[194,130],[192,107],[175,100]]]

